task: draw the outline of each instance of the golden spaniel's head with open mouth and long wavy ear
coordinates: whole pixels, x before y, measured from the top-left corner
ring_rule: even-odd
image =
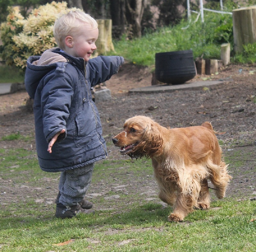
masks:
[[[149,158],[161,153],[162,138],[157,123],[145,116],[129,118],[124,123],[124,131],[117,134],[113,143],[120,147],[120,153],[132,158]]]

